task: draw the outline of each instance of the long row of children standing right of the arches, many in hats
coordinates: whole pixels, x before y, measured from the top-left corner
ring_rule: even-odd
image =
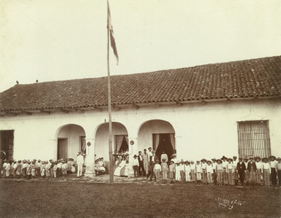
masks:
[[[177,160],[176,155],[169,162],[165,159],[155,161],[153,167],[155,181],[158,183],[162,175],[163,183],[166,183],[169,174],[171,183],[192,183],[200,185],[236,185],[244,186],[281,186],[281,158],[270,156],[269,158],[213,158],[211,160]]]

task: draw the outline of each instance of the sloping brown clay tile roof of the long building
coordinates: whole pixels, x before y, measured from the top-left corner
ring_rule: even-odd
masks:
[[[115,75],[112,104],[281,96],[281,56]],[[0,93],[0,111],[107,105],[107,77],[18,84]]]

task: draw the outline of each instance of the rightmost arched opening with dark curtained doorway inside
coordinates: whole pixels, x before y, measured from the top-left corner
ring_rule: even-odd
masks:
[[[158,158],[162,152],[168,155],[176,153],[174,127],[164,120],[150,120],[143,123],[138,131],[138,150],[148,150],[149,147],[155,150]]]

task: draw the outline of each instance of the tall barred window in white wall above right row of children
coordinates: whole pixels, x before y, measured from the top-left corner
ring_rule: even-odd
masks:
[[[271,155],[268,120],[237,122],[238,153],[242,158]]]

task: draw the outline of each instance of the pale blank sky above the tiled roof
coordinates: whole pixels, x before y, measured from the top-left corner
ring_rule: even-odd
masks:
[[[124,75],[281,55],[280,0],[109,0]],[[105,0],[0,0],[0,91],[107,76]]]

